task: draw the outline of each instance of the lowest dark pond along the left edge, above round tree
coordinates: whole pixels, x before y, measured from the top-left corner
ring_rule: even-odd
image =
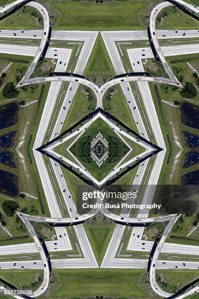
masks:
[[[8,196],[17,197],[19,193],[18,176],[0,169],[0,192]]]

